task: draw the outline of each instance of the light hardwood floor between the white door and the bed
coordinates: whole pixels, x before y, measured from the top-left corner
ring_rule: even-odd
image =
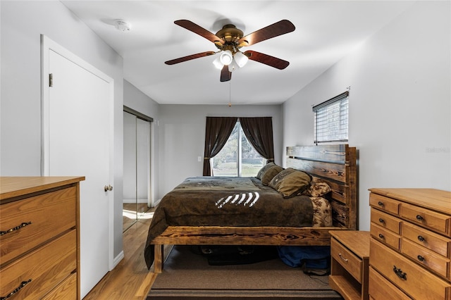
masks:
[[[102,278],[84,300],[146,299],[156,278],[144,262],[144,243],[151,220],[142,218],[123,233],[123,260]]]

